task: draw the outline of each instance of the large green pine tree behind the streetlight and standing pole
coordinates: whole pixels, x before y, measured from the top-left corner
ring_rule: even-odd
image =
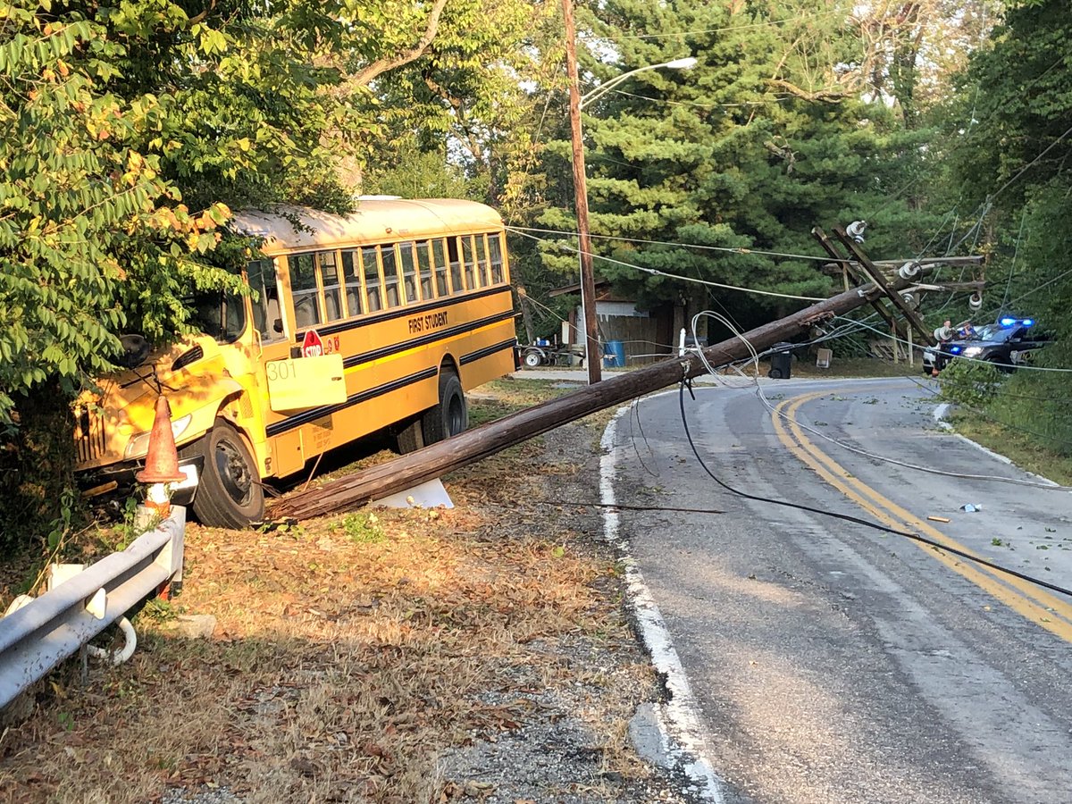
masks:
[[[583,19],[594,80],[698,60],[688,72],[639,72],[585,107],[592,229],[623,238],[597,245],[604,254],[679,276],[825,296],[832,284],[818,262],[755,252],[819,255],[813,226],[858,219],[869,224],[876,256],[920,239],[900,195],[917,169],[919,135],[861,91],[848,6],[615,0]],[[549,211],[545,223],[571,227],[567,210]],[[547,252],[549,266],[572,269],[571,257]],[[686,299],[696,311],[713,296],[751,322],[795,303],[596,263],[644,306]]]

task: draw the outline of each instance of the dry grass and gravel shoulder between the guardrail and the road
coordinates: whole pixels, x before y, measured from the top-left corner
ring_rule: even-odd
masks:
[[[85,686],[72,662],[2,731],[0,798],[687,801],[627,739],[660,687],[585,505],[597,438],[578,422],[467,467],[452,510],[191,525],[183,594],[136,617],[134,658]],[[179,637],[184,613],[212,636]]]

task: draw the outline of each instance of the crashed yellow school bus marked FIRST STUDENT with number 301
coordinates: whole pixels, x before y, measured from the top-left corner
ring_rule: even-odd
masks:
[[[287,208],[233,225],[264,239],[245,272],[254,295],[198,297],[203,334],[99,383],[76,412],[88,492],[123,487],[144,464],[164,393],[181,463],[196,467],[194,512],[244,526],[264,517],[265,479],[384,428],[401,451],[455,435],[465,391],[515,368],[491,208],[370,198],[348,217]]]

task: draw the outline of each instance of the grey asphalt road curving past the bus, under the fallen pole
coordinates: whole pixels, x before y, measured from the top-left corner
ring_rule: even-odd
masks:
[[[1072,586],[1072,494],[939,430],[906,379],[702,387],[724,482],[911,530]],[[779,407],[780,406],[780,407]],[[805,428],[812,428],[812,432]],[[902,536],[720,489],[676,392],[617,423],[615,496],[728,802],[1072,802],[1072,598]],[[968,513],[964,504],[980,504]],[[948,523],[928,520],[943,517]]]

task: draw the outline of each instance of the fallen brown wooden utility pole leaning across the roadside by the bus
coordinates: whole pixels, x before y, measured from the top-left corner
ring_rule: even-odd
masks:
[[[889,283],[889,292],[896,293],[908,284],[897,278]],[[881,293],[875,285],[854,287],[785,318],[751,329],[744,333],[744,339],[756,351],[762,352],[775,343],[806,332],[816,324],[868,304]],[[749,357],[748,346],[740,338],[709,346],[703,349],[703,354],[712,366],[725,366]],[[300,520],[357,508],[370,501],[405,491],[446,472],[466,466],[568,421],[706,371],[698,355],[688,354],[668,358],[627,374],[617,374],[387,463],[295,494],[274,505],[270,513],[274,519]]]

